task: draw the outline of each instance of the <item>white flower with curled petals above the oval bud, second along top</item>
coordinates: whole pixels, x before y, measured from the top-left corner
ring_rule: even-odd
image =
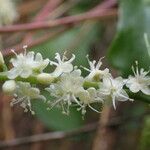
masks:
[[[55,59],[58,61],[58,63],[50,61],[51,65],[56,66],[56,69],[53,72],[55,77],[60,76],[62,73],[69,73],[73,70],[73,65],[71,63],[75,59],[75,55],[72,55],[72,58],[68,60],[64,54],[61,60],[60,54],[56,53]]]

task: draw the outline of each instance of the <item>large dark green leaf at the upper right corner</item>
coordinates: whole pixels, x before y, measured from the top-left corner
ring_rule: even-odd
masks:
[[[125,76],[138,60],[148,70],[150,58],[144,33],[150,35],[150,9],[143,0],[120,0],[118,32],[108,51],[111,65]]]

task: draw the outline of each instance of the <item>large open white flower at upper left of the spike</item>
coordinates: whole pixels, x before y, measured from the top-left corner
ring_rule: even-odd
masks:
[[[25,49],[26,47],[24,47]],[[49,59],[43,60],[42,55],[34,52],[28,52],[26,54],[26,49],[24,54],[19,55],[15,54],[16,58],[12,58],[10,62],[13,65],[13,68],[8,71],[8,78],[15,79],[20,76],[22,78],[28,78],[33,73],[42,72],[43,69],[48,65]]]

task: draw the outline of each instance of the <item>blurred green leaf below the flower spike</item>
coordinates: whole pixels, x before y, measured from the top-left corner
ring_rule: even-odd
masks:
[[[60,109],[53,108],[47,110],[48,105],[41,100],[32,102],[33,110],[36,116],[47,126],[53,130],[72,130],[83,124],[82,116],[76,109],[71,109],[70,114],[62,114]]]

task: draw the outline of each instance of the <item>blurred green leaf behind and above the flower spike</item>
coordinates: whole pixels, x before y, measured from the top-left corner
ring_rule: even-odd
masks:
[[[100,25],[95,22],[86,22],[78,28],[73,28],[58,38],[36,46],[30,50],[40,52],[44,58],[54,60],[55,53],[74,53],[75,65],[87,66],[86,55],[91,45],[97,40],[100,33]],[[49,71],[49,70],[48,70]]]

